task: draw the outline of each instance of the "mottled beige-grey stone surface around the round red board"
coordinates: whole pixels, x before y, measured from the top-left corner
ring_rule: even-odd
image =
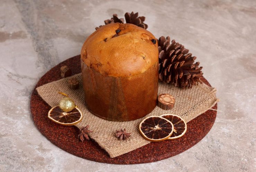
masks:
[[[156,37],[170,35],[217,88],[208,135],[162,161],[113,165],[75,157],[34,126],[30,95],[38,79],[80,53],[111,14],[139,12]],[[0,171],[256,171],[256,1],[1,0]]]

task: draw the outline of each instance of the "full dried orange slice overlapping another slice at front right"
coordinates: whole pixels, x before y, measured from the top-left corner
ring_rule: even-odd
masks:
[[[159,116],[147,117],[139,124],[141,135],[149,141],[168,139],[173,133],[173,128],[171,121]]]

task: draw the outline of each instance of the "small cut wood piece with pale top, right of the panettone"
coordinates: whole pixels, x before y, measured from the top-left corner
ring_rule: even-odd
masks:
[[[157,106],[161,109],[170,110],[174,107],[175,99],[170,94],[160,94],[157,100]]]

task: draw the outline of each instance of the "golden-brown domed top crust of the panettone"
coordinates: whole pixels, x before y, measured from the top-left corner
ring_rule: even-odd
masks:
[[[120,32],[116,33],[118,29]],[[154,44],[153,39],[156,40],[152,33],[133,24],[107,24],[86,39],[81,58],[104,76],[134,76],[158,61],[157,40]]]

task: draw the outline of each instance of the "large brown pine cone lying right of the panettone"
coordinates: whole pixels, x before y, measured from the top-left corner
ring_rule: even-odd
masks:
[[[171,83],[181,88],[192,88],[193,85],[202,83],[200,78],[203,73],[199,62],[194,63],[196,57],[188,49],[167,36],[158,40],[159,51],[159,80]]]

